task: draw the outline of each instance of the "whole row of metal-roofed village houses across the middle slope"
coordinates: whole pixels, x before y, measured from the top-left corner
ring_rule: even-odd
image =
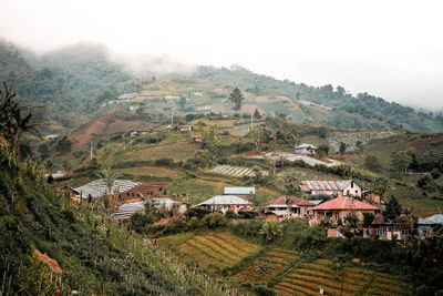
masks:
[[[178,211],[183,214],[187,205],[168,197],[166,182],[140,183],[130,180],[115,181],[112,192],[117,195],[119,208],[114,213],[114,218],[125,220],[133,213],[144,210],[145,197],[151,198],[156,206],[171,210],[174,204],[178,204]],[[341,236],[339,225],[344,224],[346,218],[351,214],[361,223],[364,214],[372,214],[374,220],[363,228],[363,237],[380,239],[404,239],[410,235],[425,236],[431,232],[443,229],[443,214],[433,215],[426,218],[418,218],[414,227],[402,227],[394,221],[387,221],[381,214],[380,196],[363,191],[354,180],[347,181],[301,181],[300,190],[311,195],[311,200],[297,196],[279,196],[265,204],[259,217],[265,221],[284,221],[287,218],[303,218],[310,225],[316,225],[322,221],[328,221],[336,228],[328,232],[329,236]],[[107,194],[104,180],[96,180],[84,186],[71,188],[76,198],[94,198]],[[195,207],[212,211],[219,211],[226,214],[231,210],[234,213],[239,211],[255,211],[254,204],[248,198],[256,193],[255,187],[225,187],[224,193],[216,195]],[[316,196],[329,195],[332,198],[323,201]]]

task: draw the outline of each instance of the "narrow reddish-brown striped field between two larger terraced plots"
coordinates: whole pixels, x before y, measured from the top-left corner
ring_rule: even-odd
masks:
[[[267,251],[262,256],[257,258],[248,268],[233,276],[238,283],[262,282],[264,276],[260,275],[260,266],[267,265],[270,271],[267,273],[268,280],[274,276],[288,268],[290,263],[298,258],[296,252],[272,248]]]

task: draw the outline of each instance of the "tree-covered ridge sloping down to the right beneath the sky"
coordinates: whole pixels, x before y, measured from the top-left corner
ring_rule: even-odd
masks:
[[[293,121],[330,125],[339,129],[405,129],[443,131],[443,116],[419,112],[398,103],[389,103],[368,93],[353,96],[342,86],[327,84],[315,88],[289,80],[256,74],[241,67],[200,67],[195,79],[228,85],[241,85],[254,95],[287,95],[295,103],[285,111]]]

